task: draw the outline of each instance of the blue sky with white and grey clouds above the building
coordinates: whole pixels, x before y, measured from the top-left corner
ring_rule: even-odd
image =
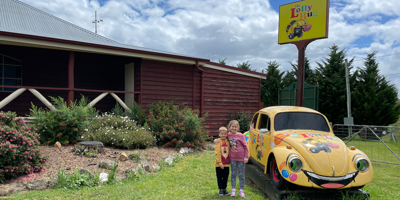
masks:
[[[114,41],[186,54],[226,64],[248,61],[260,72],[276,60],[281,71],[297,60],[293,44],[279,45],[279,5],[296,0],[20,0]],[[400,88],[400,3],[398,0],[330,0],[328,38],[312,41],[306,56],[316,62],[333,43],[355,57],[376,50],[381,74]],[[344,77],[343,77],[344,78]]]

